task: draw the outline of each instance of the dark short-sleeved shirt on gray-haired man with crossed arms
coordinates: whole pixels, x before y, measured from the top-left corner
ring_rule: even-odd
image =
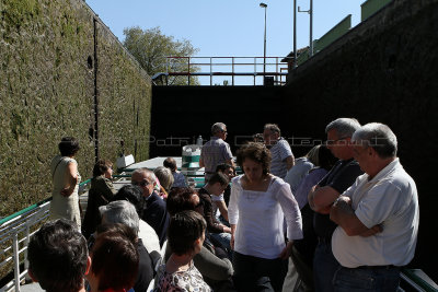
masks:
[[[318,185],[320,187],[330,186],[343,194],[362,173],[355,160],[339,160]],[[328,214],[315,212],[313,226],[319,237],[330,240],[336,229],[336,223],[330,220]]]

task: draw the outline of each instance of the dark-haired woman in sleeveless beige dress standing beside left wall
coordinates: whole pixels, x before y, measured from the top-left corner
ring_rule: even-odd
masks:
[[[50,163],[50,173],[54,182],[53,199],[50,203],[50,218],[65,218],[76,222],[81,229],[81,214],[79,209],[79,183],[81,176],[78,163],[74,160],[79,151],[79,142],[73,137],[64,137],[59,143],[60,155],[56,155]]]

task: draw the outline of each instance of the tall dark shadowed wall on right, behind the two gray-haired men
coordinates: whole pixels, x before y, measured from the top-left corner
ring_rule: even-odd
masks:
[[[399,156],[417,183],[419,242],[414,267],[438,281],[431,236],[438,121],[438,1],[395,0],[288,77],[286,125],[297,135],[323,137],[339,116],[389,125]]]

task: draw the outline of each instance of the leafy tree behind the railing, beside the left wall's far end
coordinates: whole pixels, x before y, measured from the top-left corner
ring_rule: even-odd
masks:
[[[174,40],[173,36],[164,35],[160,27],[141,30],[140,27],[127,27],[124,30],[124,45],[128,51],[137,59],[140,66],[150,77],[155,73],[187,72],[188,59],[170,59],[166,57],[193,57],[198,49],[194,48],[189,40]],[[199,68],[191,66],[191,72],[199,71]],[[170,77],[170,85],[188,84],[187,77]],[[191,84],[197,85],[199,81],[196,77],[191,78]]]

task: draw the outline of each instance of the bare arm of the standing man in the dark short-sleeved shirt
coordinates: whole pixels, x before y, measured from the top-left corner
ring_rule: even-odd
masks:
[[[328,214],[332,203],[339,197],[339,191],[331,186],[319,187],[316,185],[309,191],[309,206],[315,212]]]

